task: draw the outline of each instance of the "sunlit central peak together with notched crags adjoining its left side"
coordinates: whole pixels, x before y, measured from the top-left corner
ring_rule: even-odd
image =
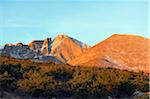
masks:
[[[64,34],[56,36],[54,40],[46,38],[41,41],[32,41],[28,46],[44,56],[52,56],[63,63],[74,59],[89,48],[87,44]]]

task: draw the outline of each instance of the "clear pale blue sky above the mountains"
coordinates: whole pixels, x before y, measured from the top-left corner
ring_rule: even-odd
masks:
[[[0,45],[58,34],[94,45],[121,33],[148,38],[148,0],[0,0]]]

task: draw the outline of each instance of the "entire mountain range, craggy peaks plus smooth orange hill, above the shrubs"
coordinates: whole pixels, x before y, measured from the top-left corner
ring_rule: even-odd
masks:
[[[27,45],[8,43],[1,55],[52,61],[71,66],[114,67],[149,72],[149,39],[137,35],[114,34],[90,47],[61,34],[45,40],[34,40]]]

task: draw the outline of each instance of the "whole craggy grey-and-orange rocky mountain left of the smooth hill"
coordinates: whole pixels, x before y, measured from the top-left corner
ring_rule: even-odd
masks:
[[[58,35],[52,40],[34,40],[28,45],[22,43],[6,44],[1,50],[1,56],[20,59],[33,59],[67,63],[83,53],[89,46],[67,35]]]

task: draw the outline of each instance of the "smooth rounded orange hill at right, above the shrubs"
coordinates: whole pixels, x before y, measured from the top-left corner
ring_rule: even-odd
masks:
[[[89,48],[68,64],[150,72],[149,48],[149,39],[115,34]]]

